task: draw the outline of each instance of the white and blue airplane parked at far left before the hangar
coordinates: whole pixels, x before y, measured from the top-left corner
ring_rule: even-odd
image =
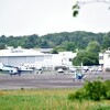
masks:
[[[10,74],[12,75],[21,75],[22,73],[33,73],[33,69],[31,68],[22,68],[22,67],[14,67],[14,66],[10,66],[10,65],[4,65],[2,63],[0,63],[0,73],[4,73],[4,74]]]

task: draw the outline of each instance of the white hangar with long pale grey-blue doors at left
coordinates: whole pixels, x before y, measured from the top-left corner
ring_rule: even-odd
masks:
[[[52,55],[43,54],[34,50],[25,50],[21,47],[0,50],[0,62],[11,66],[22,66],[24,64],[36,66],[40,66],[41,64],[47,65],[51,63],[51,59]]]

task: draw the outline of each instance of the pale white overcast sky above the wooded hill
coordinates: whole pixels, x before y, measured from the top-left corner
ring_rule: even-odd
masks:
[[[88,3],[73,16],[76,0],[0,0],[0,35],[45,35],[59,32],[110,31],[106,3]],[[82,0],[79,0],[82,1]],[[88,0],[84,0],[88,1]]]

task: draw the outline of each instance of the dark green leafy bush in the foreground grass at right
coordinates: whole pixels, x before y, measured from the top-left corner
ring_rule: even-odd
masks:
[[[75,94],[68,96],[70,100],[90,99],[100,101],[101,99],[110,99],[110,80],[92,82],[86,82],[81,89],[78,89]]]

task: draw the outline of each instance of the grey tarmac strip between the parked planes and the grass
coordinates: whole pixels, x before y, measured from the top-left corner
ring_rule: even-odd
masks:
[[[53,89],[53,88],[80,88],[84,80],[73,81],[73,74],[22,74],[21,76],[0,74],[0,90],[3,89]],[[98,77],[110,79],[110,74],[86,75],[86,80],[95,80]]]

